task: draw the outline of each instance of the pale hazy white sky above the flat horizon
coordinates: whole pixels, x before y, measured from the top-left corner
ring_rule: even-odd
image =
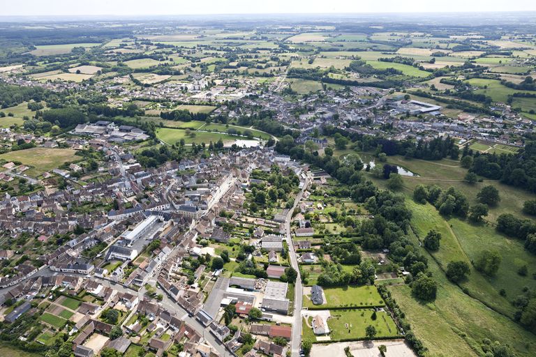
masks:
[[[535,0],[1,0],[0,15],[191,15],[536,10]]]

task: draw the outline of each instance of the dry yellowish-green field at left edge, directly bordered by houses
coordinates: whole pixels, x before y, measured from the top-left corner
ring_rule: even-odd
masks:
[[[34,169],[29,169],[29,176],[39,176],[43,172],[56,169],[64,164],[64,162],[72,162],[80,159],[80,156],[75,155],[73,149],[47,149],[47,148],[31,148],[19,151],[11,151],[0,155],[3,160],[20,161],[24,165],[33,166]]]

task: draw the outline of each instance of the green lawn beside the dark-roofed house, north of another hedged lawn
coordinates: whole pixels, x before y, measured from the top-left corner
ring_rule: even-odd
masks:
[[[311,298],[304,297],[305,307],[364,307],[385,305],[374,286],[330,287],[324,289],[326,301],[322,305],[313,305]]]

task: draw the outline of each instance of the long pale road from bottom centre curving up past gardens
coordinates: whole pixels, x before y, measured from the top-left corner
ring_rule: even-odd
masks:
[[[294,323],[292,324],[292,340],[290,340],[290,349],[292,351],[292,357],[299,357],[299,349],[301,346],[301,303],[304,297],[303,286],[301,284],[301,275],[299,274],[298,259],[296,257],[296,250],[294,244],[292,244],[292,234],[290,233],[290,222],[292,222],[292,213],[299,204],[301,197],[304,195],[305,190],[309,185],[309,178],[304,183],[304,188],[296,196],[294,200],[294,206],[288,211],[287,218],[285,219],[285,239],[288,243],[288,252],[290,257],[290,265],[297,271],[298,276],[296,278],[295,290],[294,290]]]

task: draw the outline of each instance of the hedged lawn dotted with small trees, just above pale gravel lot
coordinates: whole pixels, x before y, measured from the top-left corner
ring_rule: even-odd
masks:
[[[376,312],[376,319],[371,319],[374,310],[331,310],[332,317],[327,320],[333,341],[351,338],[364,338],[365,328],[376,328],[377,337],[396,336],[398,331],[393,319],[387,312]],[[348,327],[345,325],[348,324]]]

